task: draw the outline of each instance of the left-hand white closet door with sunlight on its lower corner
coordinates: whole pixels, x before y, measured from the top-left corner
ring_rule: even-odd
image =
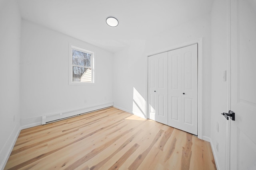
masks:
[[[149,118],[168,124],[168,56],[161,53],[148,57]]]

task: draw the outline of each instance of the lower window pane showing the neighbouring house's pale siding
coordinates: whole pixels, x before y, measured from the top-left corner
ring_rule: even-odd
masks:
[[[92,82],[92,69],[73,66],[73,82]]]

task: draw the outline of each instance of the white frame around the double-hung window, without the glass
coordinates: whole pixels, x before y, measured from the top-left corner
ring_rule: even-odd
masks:
[[[72,50],[77,50],[77,51],[81,51],[84,53],[90,53],[91,54],[91,69],[92,69],[92,81],[91,82],[73,82],[73,54],[72,54]],[[88,51],[85,49],[82,49],[80,47],[74,46],[74,45],[70,45],[69,48],[69,84],[70,85],[86,85],[86,84],[94,84],[94,52],[92,51]]]

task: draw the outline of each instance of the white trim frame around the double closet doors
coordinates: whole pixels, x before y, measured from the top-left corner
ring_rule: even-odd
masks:
[[[197,91],[197,131],[198,131],[198,138],[199,139],[203,139],[203,135],[202,135],[202,91],[203,91],[203,38],[198,38],[195,39],[193,41],[189,41],[189,42],[185,42],[182,44],[178,44],[178,45],[174,45],[172,47],[168,47],[165,49],[160,49],[158,51],[152,51],[150,53],[148,53],[146,55],[146,119],[149,118],[149,99],[148,99],[148,57],[152,56],[152,55],[156,55],[159,53],[165,53],[167,51],[172,51],[175,49],[180,49],[182,47],[187,47],[190,45],[194,45],[194,44],[198,44],[198,78],[197,78],[197,83],[198,83],[198,91]],[[208,138],[205,138],[203,140],[208,141]]]

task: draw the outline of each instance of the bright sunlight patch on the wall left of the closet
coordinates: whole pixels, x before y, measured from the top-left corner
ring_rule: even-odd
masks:
[[[142,95],[133,87],[133,101],[132,101],[132,113],[134,115],[143,117],[146,119],[146,100]]]

